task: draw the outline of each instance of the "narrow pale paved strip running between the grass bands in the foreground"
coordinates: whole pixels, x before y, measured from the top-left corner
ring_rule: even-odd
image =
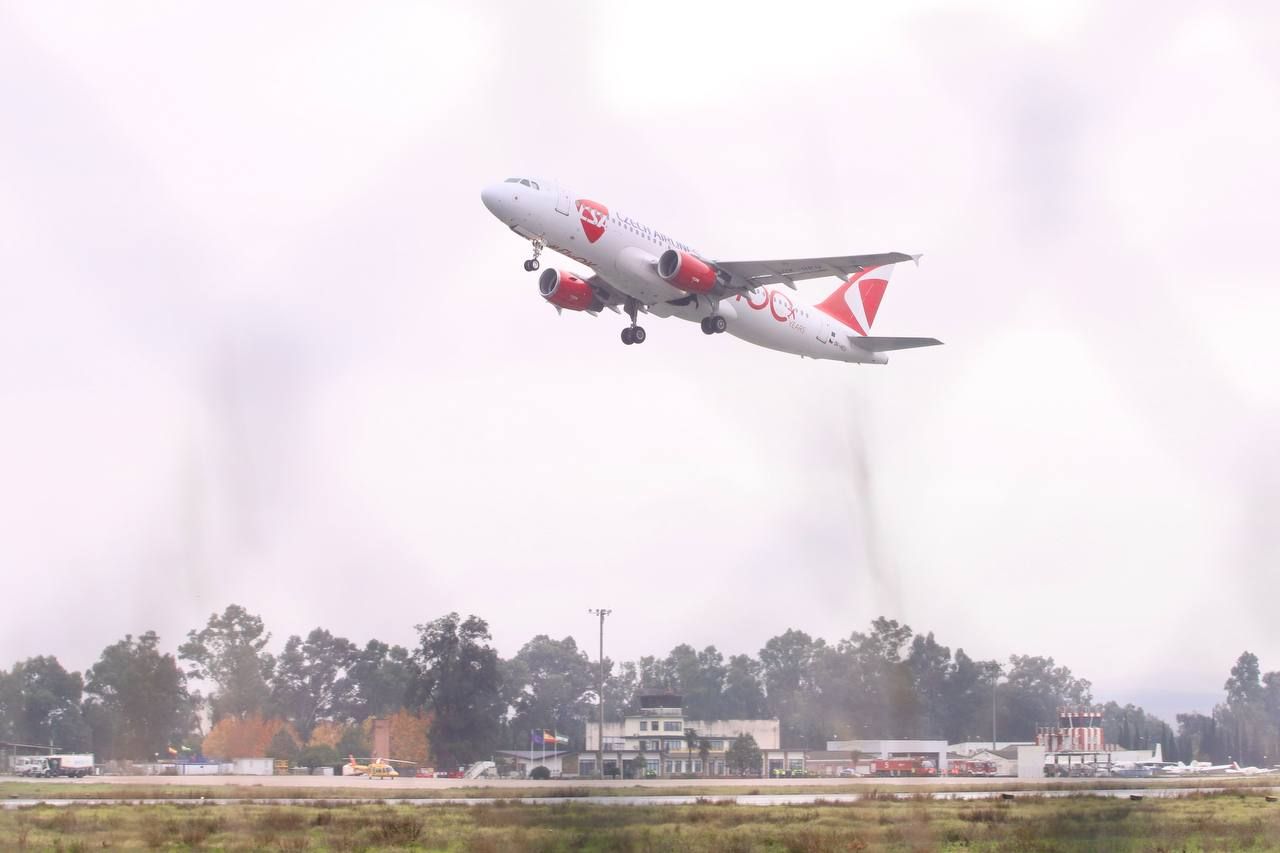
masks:
[[[813,806],[815,803],[856,803],[867,798],[893,797],[895,799],[914,799],[928,797],[929,799],[1001,799],[1011,797],[1107,797],[1128,799],[1130,797],[1169,798],[1185,797],[1187,794],[1217,794],[1228,788],[1079,788],[1071,790],[952,790],[895,794],[872,793],[845,793],[845,794],[741,794],[741,795],[710,795],[710,797],[668,797],[662,794],[645,797],[515,797],[503,802],[521,803],[527,806],[563,806],[566,803],[586,803],[589,806],[695,806],[699,803],[736,803],[739,806]],[[494,802],[492,798],[465,798],[465,797],[439,797],[439,798],[378,798],[378,799],[325,799],[323,797],[255,797],[255,798],[200,798],[200,799],[169,799],[169,798],[140,798],[140,799],[8,799],[0,800],[0,808],[28,808],[32,806],[316,806],[320,803],[340,804],[371,804],[385,803],[392,806],[483,806]]]

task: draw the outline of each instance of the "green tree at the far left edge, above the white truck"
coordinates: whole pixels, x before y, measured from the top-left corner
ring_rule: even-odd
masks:
[[[19,661],[8,674],[0,671],[0,733],[18,743],[88,749],[83,689],[81,674],[68,672],[56,657]]]

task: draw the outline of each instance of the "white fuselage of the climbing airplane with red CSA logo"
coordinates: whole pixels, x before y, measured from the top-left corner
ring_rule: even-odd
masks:
[[[658,275],[658,257],[668,248],[698,255],[667,234],[605,205],[580,199],[550,182],[485,187],[481,199],[494,216],[530,241],[589,266],[649,314],[698,323],[712,314],[726,330],[756,346],[808,359],[884,364],[881,352],[850,343],[850,329],[796,298],[788,288],[768,284],[748,295],[713,301],[672,287]]]

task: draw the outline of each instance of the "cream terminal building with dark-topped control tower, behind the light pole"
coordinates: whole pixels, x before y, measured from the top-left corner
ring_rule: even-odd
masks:
[[[692,751],[685,738],[687,729],[692,729],[698,739]],[[724,753],[742,735],[751,735],[760,748],[762,775],[804,770],[804,749],[781,748],[782,727],[777,720],[689,720],[685,717],[684,697],[655,690],[641,694],[637,712],[626,715],[621,722],[605,721],[604,775],[726,776],[730,768]],[[705,767],[700,751],[704,740],[708,747]],[[586,751],[579,756],[580,775],[595,775],[599,744],[599,722],[588,722]]]

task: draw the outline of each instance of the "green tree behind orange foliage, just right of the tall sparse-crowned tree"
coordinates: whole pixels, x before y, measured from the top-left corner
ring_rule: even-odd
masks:
[[[294,634],[285,642],[271,676],[275,708],[292,720],[303,740],[320,720],[332,720],[339,711],[340,680],[356,660],[355,644],[323,628],[303,640]]]

